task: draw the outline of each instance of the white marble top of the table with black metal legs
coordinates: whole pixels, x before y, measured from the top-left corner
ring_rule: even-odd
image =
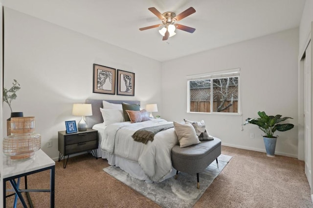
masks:
[[[31,172],[45,167],[55,166],[55,162],[42,149],[35,152],[28,160],[15,161],[3,154],[3,178]]]

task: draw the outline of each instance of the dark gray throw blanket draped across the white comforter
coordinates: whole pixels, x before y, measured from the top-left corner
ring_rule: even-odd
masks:
[[[134,141],[142,142],[143,144],[147,144],[148,141],[153,141],[157,132],[164,131],[169,128],[173,128],[173,124],[165,124],[165,125],[156,125],[146,128],[141,128],[134,132],[132,135]]]

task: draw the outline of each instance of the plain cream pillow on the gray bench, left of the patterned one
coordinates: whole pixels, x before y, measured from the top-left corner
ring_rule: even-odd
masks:
[[[178,122],[173,122],[173,124],[180,147],[201,143],[198,139],[195,128],[190,123],[186,122],[185,124],[180,124]]]

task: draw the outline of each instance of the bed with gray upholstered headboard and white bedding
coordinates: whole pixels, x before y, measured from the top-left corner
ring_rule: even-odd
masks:
[[[92,105],[92,116],[86,117],[90,128],[98,130],[98,157],[107,159],[112,166],[118,166],[132,177],[147,183],[161,182],[176,174],[171,163],[171,149],[178,144],[174,128],[158,132],[153,142],[143,144],[135,142],[131,137],[136,130],[148,126],[168,125],[163,119],[152,119],[138,123],[116,122],[106,125],[102,111],[103,101],[110,104],[138,104],[139,101],[93,100],[86,103]],[[103,109],[101,109],[103,110]]]

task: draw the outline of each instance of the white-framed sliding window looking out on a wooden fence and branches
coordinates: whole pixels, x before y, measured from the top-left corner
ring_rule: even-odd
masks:
[[[240,114],[239,68],[187,79],[187,112]]]

